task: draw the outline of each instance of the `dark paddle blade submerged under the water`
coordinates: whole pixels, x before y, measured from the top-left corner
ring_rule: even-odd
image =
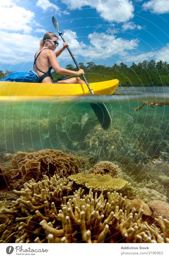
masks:
[[[106,106],[103,103],[90,103],[90,106],[96,114],[102,128],[107,130],[111,125],[111,117]]]

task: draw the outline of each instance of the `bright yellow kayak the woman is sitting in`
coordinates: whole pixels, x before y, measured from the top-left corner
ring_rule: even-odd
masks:
[[[117,79],[90,83],[97,95],[111,95],[118,88]],[[0,98],[9,96],[52,97],[89,95],[86,84],[49,84],[0,81]]]

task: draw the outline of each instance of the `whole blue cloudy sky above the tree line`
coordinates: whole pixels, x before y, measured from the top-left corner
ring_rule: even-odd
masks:
[[[32,69],[52,15],[78,63],[169,62],[169,0],[1,0],[0,70]],[[58,60],[74,64],[67,50]]]

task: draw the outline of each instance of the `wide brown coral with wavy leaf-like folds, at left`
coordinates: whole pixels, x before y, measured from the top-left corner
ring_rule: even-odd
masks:
[[[24,181],[34,178],[36,181],[43,175],[59,174],[62,178],[80,172],[80,161],[59,150],[40,150],[35,153],[17,153],[11,160],[13,169],[9,171]]]

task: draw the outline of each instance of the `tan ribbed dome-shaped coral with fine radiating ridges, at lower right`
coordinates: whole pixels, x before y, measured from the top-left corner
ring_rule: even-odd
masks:
[[[140,209],[140,206],[142,205],[143,206],[143,214],[147,215],[147,216],[152,215],[152,212],[150,211],[149,206],[145,202],[138,200],[138,199],[134,199],[134,200],[126,199],[125,205],[128,205],[129,203],[130,203],[130,209],[135,208],[136,212],[138,212]]]

